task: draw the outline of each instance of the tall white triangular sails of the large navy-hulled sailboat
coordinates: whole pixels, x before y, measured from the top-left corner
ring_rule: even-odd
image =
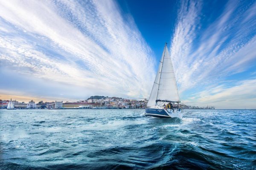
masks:
[[[180,102],[172,59],[165,44],[147,107],[156,105],[156,100]]]

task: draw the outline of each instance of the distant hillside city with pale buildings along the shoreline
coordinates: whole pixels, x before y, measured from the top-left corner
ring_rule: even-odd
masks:
[[[103,109],[116,109],[116,108],[129,108],[145,109],[148,100],[136,100],[136,99],[125,99],[120,97],[109,97],[109,96],[90,96],[88,99],[77,100],[77,101],[17,101],[15,100],[2,100],[0,99],[0,109],[7,108],[8,105],[14,105],[16,109],[91,109],[92,106],[103,107]],[[175,103],[174,103],[175,105]],[[177,104],[183,109],[215,109],[215,106],[190,106],[183,103]]]

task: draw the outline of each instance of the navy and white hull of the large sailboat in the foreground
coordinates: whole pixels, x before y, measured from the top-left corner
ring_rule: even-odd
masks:
[[[182,110],[180,111],[175,110],[174,112],[170,111],[168,113],[165,109],[161,109],[161,108],[146,108],[145,111],[146,111],[145,116],[154,116],[159,118],[172,118],[172,117],[182,118],[183,116]]]

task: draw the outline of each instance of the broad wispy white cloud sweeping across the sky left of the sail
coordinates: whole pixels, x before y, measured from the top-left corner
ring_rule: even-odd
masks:
[[[0,59],[17,74],[109,95],[148,97],[154,79],[151,49],[111,0],[2,1]]]

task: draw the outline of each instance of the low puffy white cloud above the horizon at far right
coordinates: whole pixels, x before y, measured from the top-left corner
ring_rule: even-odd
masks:
[[[215,105],[218,109],[256,108],[256,79],[236,82],[232,87],[224,85],[209,88],[205,91],[193,94],[196,98],[187,100],[190,105]]]

